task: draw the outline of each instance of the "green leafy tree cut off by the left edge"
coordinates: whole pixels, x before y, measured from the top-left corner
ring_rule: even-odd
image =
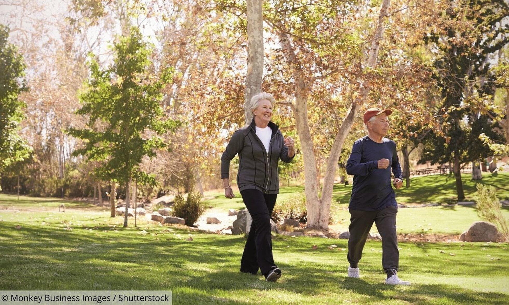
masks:
[[[9,28],[0,24],[0,173],[11,163],[29,157],[30,147],[18,134],[24,102],[18,96],[27,88],[25,65],[16,46],[7,41]],[[1,188],[0,188],[1,189]]]

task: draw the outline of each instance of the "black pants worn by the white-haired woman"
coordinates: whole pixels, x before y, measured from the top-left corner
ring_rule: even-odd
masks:
[[[246,189],[240,194],[252,217],[251,229],[240,262],[240,271],[256,274],[260,268],[262,274],[266,276],[276,267],[272,257],[270,216],[277,195],[265,195],[256,189]]]

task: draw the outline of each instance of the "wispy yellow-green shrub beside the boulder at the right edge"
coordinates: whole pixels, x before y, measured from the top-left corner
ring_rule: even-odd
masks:
[[[476,188],[477,215],[480,219],[494,224],[505,239],[509,239],[509,226],[500,210],[500,201],[495,187],[477,183]]]

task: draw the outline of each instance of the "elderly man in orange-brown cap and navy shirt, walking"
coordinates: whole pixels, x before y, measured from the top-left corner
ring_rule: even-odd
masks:
[[[398,204],[391,186],[391,169],[395,188],[403,185],[396,144],[385,138],[391,110],[370,108],[364,113],[367,136],[355,141],[347,162],[347,173],[354,175],[350,199],[350,238],[348,239],[348,276],[359,278],[358,263],[373,223],[382,237],[382,267],[387,273],[385,284],[410,285],[398,278],[400,253],[396,234]]]

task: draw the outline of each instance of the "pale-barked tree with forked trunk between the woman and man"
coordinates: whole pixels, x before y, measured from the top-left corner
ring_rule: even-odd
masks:
[[[278,64],[284,64],[286,70],[281,72],[280,69],[273,69],[273,73],[282,74],[284,80],[279,81],[278,85],[282,85],[282,82],[289,84],[291,89],[289,88],[288,94],[293,97],[291,98],[292,102],[289,102],[288,105],[292,108],[295,116],[304,159],[304,191],[308,228],[328,229],[337,161],[359,109],[369,99],[370,82],[367,74],[370,74],[377,64],[389,3],[389,0],[382,1],[377,25],[375,30],[370,33],[371,42],[364,49],[361,41],[352,39],[355,34],[346,33],[343,29],[344,20],[342,18],[348,18],[349,14],[353,14],[352,11],[349,11],[349,6],[343,6],[344,3],[335,1],[320,1],[313,4],[276,2],[275,8],[272,10],[273,13],[266,18],[281,46],[278,50],[279,54],[276,54],[275,57],[280,59]],[[348,48],[352,48],[353,53],[348,53],[346,51]],[[356,74],[352,73],[352,77],[356,78],[354,86],[358,91],[355,92],[355,97],[350,99],[349,104],[338,106],[337,101],[342,99],[341,92],[347,90],[342,88],[338,74],[352,72],[349,70],[351,68],[348,67],[349,64],[342,61],[358,61],[359,59],[356,57],[359,55],[359,50],[364,50],[364,52],[360,52],[361,68],[360,71],[357,70]],[[348,55],[342,55],[342,51]],[[348,56],[351,57],[348,58]],[[275,66],[277,67],[278,64]],[[352,64],[352,66],[357,65]],[[320,84],[320,81],[323,81],[324,84]],[[336,93],[340,97],[331,98],[326,94],[316,93],[316,90],[320,89],[314,88],[315,86],[319,87],[322,92],[324,88],[327,88],[326,90]],[[334,125],[328,125],[326,128],[322,126],[321,132],[327,130],[335,130],[335,132],[330,132],[333,140],[327,149],[325,177],[320,191],[319,158],[317,158],[314,138],[310,129],[312,115],[309,109],[312,107],[310,102],[321,99],[328,100],[330,104],[327,106],[326,103],[315,105],[320,110],[323,111],[325,107],[334,108],[335,115],[337,115],[339,108],[345,110],[346,114],[341,124],[336,123],[340,126],[336,124],[334,124],[335,127],[332,127]]]

